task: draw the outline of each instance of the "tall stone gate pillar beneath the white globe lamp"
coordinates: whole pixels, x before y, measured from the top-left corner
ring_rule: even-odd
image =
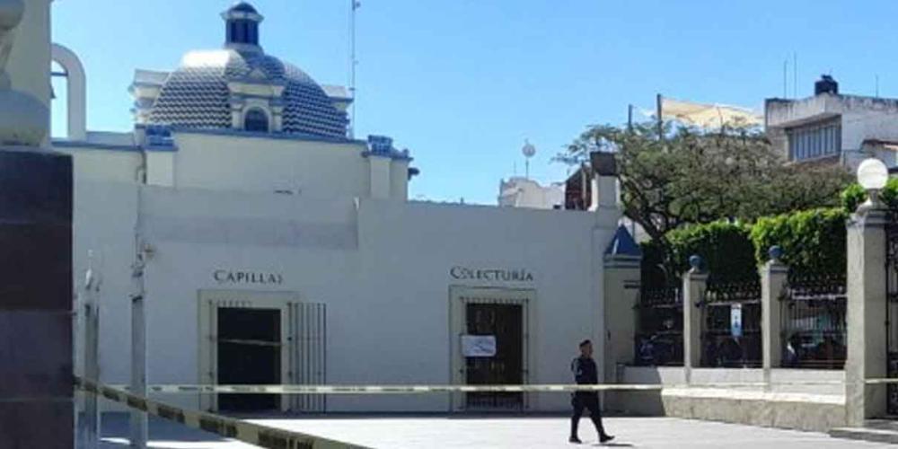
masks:
[[[849,426],[886,411],[885,385],[867,379],[886,374],[888,317],[885,269],[885,211],[859,210],[848,225],[848,359],[845,361],[845,405]]]

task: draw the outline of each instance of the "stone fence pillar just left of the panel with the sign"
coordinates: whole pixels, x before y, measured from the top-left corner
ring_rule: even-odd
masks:
[[[689,263],[692,268],[682,277],[682,365],[686,383],[692,381],[692,368],[701,364],[700,302],[708,284],[708,274],[701,270],[701,258],[692,256]]]

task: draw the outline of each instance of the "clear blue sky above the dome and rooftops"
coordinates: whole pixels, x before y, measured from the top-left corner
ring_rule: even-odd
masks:
[[[550,163],[585,126],[622,123],[655,94],[760,110],[782,96],[797,54],[797,93],[822,73],[841,92],[898,96],[898,2],[361,0],[357,136],[392,136],[421,175],[412,198],[494,204],[498,181],[562,180]],[[349,0],[254,0],[261,43],[322,84],[348,79]],[[131,127],[135,68],[171,69],[218,48],[226,0],[57,0],[53,40],[82,58],[88,128]],[[57,89],[61,87],[57,86]],[[64,126],[54,112],[54,133]]]

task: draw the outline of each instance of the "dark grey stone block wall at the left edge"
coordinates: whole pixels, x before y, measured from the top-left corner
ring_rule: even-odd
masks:
[[[71,449],[72,160],[0,149],[0,448]]]

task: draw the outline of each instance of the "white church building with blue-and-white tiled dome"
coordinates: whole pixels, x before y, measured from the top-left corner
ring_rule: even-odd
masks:
[[[595,186],[585,211],[409,201],[411,154],[349,137],[345,89],[266,54],[250,4],[222,17],[223,48],[136,70],[128,133],[84,127],[84,80],[101,67],[22,43],[68,78],[68,136],[48,145],[74,160],[75,286],[89,264],[102,276],[101,381],[129,382],[129,298],[143,295],[151,384],[570,382],[577,342],[611,331],[606,252],[633,251],[614,189]],[[569,405],[521,393],[166,399],[294,412]]]

